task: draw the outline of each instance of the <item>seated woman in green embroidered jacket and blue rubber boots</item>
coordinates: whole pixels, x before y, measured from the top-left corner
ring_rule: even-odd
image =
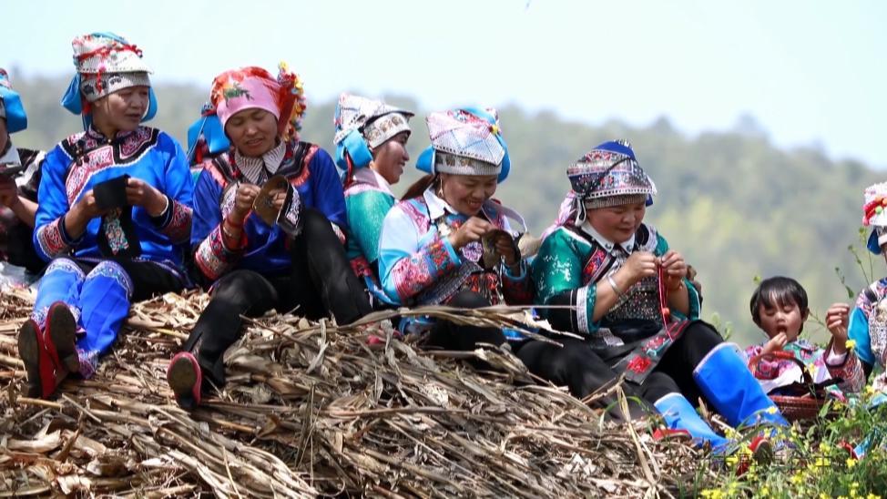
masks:
[[[716,449],[728,442],[699,418],[700,395],[731,425],[786,424],[739,353],[698,321],[683,257],[643,223],[656,188],[628,143],[601,144],[567,176],[574,209],[533,266],[536,302],[563,307],[542,309],[552,326],[586,336],[564,340],[566,348],[595,358],[598,380],[625,372],[628,392]]]

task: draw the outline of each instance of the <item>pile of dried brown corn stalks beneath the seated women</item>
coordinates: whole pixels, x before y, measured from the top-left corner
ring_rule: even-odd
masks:
[[[365,333],[292,315],[248,321],[225,390],[189,414],[165,371],[203,294],[139,304],[95,378],[27,399],[15,335],[31,299],[0,295],[0,496],[669,496],[699,465],[685,445],[654,443],[648,423],[602,423],[526,382],[506,351],[471,353],[495,366],[478,372],[464,353],[390,337],[370,350]]]

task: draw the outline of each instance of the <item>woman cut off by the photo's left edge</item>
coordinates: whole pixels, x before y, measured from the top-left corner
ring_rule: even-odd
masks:
[[[21,97],[0,68],[0,261],[24,267],[32,274],[46,267],[34,249],[34,218],[43,151],[15,148],[11,134],[27,127]],[[4,168],[21,169],[14,175]]]

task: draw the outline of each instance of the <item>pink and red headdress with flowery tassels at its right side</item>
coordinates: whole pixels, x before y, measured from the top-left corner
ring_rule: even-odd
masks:
[[[212,82],[209,100],[224,130],[230,117],[244,109],[268,111],[278,121],[278,134],[284,139],[299,137],[305,114],[305,93],[299,76],[286,63],[278,66],[278,76],[257,66],[226,71]]]

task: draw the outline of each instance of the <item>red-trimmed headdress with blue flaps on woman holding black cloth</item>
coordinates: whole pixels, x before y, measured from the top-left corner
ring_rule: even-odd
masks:
[[[76,75],[71,79],[62,106],[83,115],[84,127],[91,122],[91,104],[102,97],[127,87],[150,87],[148,65],[142,61],[142,51],[121,36],[113,33],[93,33],[77,36],[71,42],[74,48]],[[148,110],[142,121],[157,114],[157,97],[149,90]]]

